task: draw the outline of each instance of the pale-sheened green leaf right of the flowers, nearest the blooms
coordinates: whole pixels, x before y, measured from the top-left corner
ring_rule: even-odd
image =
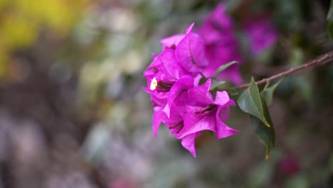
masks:
[[[240,110],[244,113],[249,113],[250,115],[258,117],[258,119],[261,120],[267,127],[270,127],[270,124],[265,119],[258,86],[253,78],[251,78],[250,87],[244,90],[244,92],[239,96],[237,103]]]

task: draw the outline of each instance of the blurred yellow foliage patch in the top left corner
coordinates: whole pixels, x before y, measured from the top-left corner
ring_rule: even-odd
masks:
[[[31,46],[46,29],[65,36],[87,4],[85,0],[0,0],[0,78],[6,78],[11,53]]]

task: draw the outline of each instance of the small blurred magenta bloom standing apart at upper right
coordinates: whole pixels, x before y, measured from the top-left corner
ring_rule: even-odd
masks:
[[[267,17],[251,19],[244,24],[250,39],[251,52],[258,56],[277,41],[277,31]]]

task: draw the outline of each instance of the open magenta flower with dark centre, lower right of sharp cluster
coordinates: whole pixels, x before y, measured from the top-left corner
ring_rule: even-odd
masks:
[[[179,132],[179,137],[201,130],[211,130],[216,133],[217,139],[221,139],[238,132],[225,124],[230,113],[229,106],[235,103],[226,91],[218,91],[213,100],[213,96],[209,93],[210,85],[211,80],[208,79],[203,85],[189,90],[188,95],[196,97],[188,98],[184,127]]]

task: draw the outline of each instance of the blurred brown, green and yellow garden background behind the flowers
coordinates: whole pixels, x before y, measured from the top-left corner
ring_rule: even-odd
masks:
[[[245,83],[333,49],[329,0],[224,2]],[[332,65],[277,88],[268,160],[237,107],[228,125],[240,132],[204,133],[196,158],[166,127],[152,136],[142,71],[161,38],[199,26],[218,3],[0,0],[0,188],[333,187]],[[258,15],[278,38],[253,56],[240,28]]]

